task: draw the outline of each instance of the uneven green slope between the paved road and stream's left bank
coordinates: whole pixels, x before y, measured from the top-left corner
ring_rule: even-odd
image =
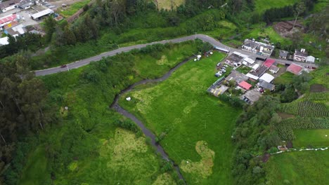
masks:
[[[108,57],[69,72],[41,77],[58,124],[39,135],[23,166],[20,184],[162,184],[176,172],[148,146],[131,121],[109,105],[120,90],[155,78],[197,53],[193,41]],[[65,111],[64,107],[68,110]],[[124,124],[122,124],[124,123]],[[133,127],[134,128],[134,127]]]

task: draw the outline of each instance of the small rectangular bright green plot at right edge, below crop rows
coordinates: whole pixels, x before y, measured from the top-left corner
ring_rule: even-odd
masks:
[[[293,146],[296,147],[317,147],[329,146],[329,130],[316,129],[316,130],[294,130],[296,139]]]

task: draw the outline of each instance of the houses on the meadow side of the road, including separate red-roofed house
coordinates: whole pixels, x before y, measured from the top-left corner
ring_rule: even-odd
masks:
[[[249,104],[253,104],[259,97],[262,97],[262,94],[266,91],[275,90],[276,86],[272,83],[274,76],[280,70],[276,66],[279,62],[271,58],[256,57],[252,58],[251,56],[244,55],[242,53],[233,52],[231,55],[228,55],[224,62],[233,67],[228,76],[221,77],[215,83],[213,83],[207,91],[212,93],[212,95],[219,96],[222,95],[228,90],[228,84],[231,81],[234,81],[236,90],[240,89],[243,95],[240,96],[241,100]],[[239,67],[249,67],[250,71],[247,74],[239,72],[237,69]],[[287,68],[287,71],[292,72],[293,74],[299,75],[303,71],[303,67],[292,63]],[[253,85],[252,85],[253,84]]]

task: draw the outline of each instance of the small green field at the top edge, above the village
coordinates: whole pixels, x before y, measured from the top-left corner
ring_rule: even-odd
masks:
[[[264,0],[255,0],[255,11],[258,13],[262,13],[269,8],[279,8],[287,5],[295,4],[298,0],[271,0],[271,1],[264,1]]]

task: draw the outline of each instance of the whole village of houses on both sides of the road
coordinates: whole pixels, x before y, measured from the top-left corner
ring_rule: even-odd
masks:
[[[277,61],[270,58],[274,50],[273,44],[269,44],[269,41],[266,42],[262,43],[255,41],[255,39],[245,39],[241,46],[242,50],[256,53],[257,55],[245,55],[237,51],[229,54],[222,62],[217,64],[216,69],[218,71],[214,76],[219,77],[219,79],[207,91],[212,93],[212,95],[219,96],[233,88],[243,93],[243,95],[240,95],[241,100],[248,104],[253,104],[266,91],[275,90],[275,85],[272,83],[273,80],[285,71],[299,75],[303,71],[309,73],[316,69],[308,65],[314,64],[315,57],[307,55],[304,48],[296,49],[293,55],[288,55],[288,52],[285,50],[279,50],[280,60]],[[229,50],[225,48],[214,47],[214,50],[229,53]],[[212,54],[212,52],[210,53]],[[209,52],[205,53],[205,56],[208,57],[208,55]],[[292,62],[287,64],[283,60]],[[297,64],[297,62],[304,62],[303,66]],[[231,96],[231,93],[228,94]]]

